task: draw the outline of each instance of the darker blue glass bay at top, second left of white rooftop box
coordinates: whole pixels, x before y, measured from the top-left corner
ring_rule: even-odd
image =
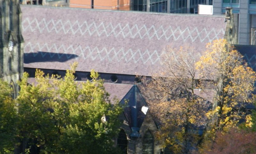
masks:
[[[187,0],[170,0],[170,13],[187,13]]]

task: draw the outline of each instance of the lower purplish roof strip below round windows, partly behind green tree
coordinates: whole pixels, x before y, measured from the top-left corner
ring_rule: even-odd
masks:
[[[35,78],[29,78],[28,83],[36,85]],[[77,83],[79,84],[82,82],[77,81]],[[133,85],[104,83],[104,87],[105,90],[110,94],[111,100],[113,100],[113,98],[117,98],[120,101],[126,95],[126,93],[129,92]]]

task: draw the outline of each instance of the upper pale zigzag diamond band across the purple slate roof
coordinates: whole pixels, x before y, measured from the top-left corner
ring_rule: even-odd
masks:
[[[140,38],[140,39],[164,39],[164,40],[178,40],[182,38],[183,41],[191,40],[194,42],[197,38],[201,42],[211,42],[212,40],[219,39],[219,36],[224,36],[224,30],[215,28],[198,29],[197,27],[163,27],[162,25],[139,25],[139,24],[112,24],[95,21],[76,20],[54,20],[42,18],[25,18],[22,22],[23,32],[39,32],[43,33],[56,33],[56,34],[70,34],[70,35],[96,35],[99,37],[114,36],[122,38]]]

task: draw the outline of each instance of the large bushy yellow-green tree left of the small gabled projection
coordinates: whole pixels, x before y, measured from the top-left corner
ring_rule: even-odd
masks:
[[[95,71],[93,82],[74,81],[76,65],[64,80],[36,70],[33,85],[27,84],[24,73],[17,98],[18,129],[31,153],[117,153],[112,138],[118,133],[122,108],[111,104]]]

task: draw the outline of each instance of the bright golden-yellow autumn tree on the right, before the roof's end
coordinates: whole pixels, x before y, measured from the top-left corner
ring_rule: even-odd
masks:
[[[208,134],[228,131],[245,118],[246,104],[253,102],[255,72],[243,56],[225,39],[214,40],[197,63],[201,78],[209,81],[216,92],[214,108],[207,113],[211,119]]]

